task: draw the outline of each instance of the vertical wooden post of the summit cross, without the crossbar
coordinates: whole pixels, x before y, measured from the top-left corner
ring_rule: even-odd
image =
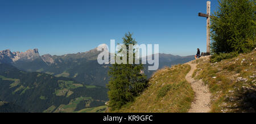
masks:
[[[210,54],[210,1],[207,1],[207,54]]]

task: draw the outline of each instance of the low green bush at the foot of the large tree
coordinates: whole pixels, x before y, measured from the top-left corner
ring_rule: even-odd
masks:
[[[210,62],[211,63],[220,62],[223,59],[234,58],[237,56],[238,56],[237,52],[219,53],[219,54],[216,53],[216,54],[213,54],[212,57],[210,57]]]

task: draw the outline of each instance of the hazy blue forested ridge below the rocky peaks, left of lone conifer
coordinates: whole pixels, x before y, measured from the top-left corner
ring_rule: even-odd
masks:
[[[55,56],[55,63],[47,65],[42,59],[32,62],[18,61],[13,66],[28,72],[45,72],[57,77],[64,76],[74,78],[78,82],[86,85],[106,86],[108,83],[108,65],[99,65],[96,59],[74,58],[72,55]],[[97,56],[96,56],[97,57]]]

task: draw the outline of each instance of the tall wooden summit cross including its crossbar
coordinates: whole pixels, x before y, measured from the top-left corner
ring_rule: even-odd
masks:
[[[198,16],[207,18],[207,53],[210,55],[210,1],[207,1],[207,14],[199,12]]]

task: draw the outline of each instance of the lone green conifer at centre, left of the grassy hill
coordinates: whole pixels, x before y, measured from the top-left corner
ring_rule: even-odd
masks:
[[[126,33],[123,37],[123,46],[126,47],[127,53],[123,53],[123,49],[118,51],[118,54],[121,55],[121,58],[124,54],[127,55],[127,64],[113,64],[110,67],[109,75],[110,81],[107,85],[109,88],[109,108],[110,110],[120,109],[127,102],[134,100],[135,96],[138,96],[139,93],[147,86],[146,76],[141,73],[143,70],[142,64],[128,64],[129,60],[129,44],[135,45],[135,41],[132,37],[132,34]],[[136,49],[133,49],[133,58],[135,60]],[[115,54],[117,57],[118,54]],[[126,58],[122,58],[126,59]],[[134,61],[133,61],[134,62]]]

